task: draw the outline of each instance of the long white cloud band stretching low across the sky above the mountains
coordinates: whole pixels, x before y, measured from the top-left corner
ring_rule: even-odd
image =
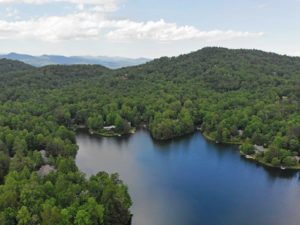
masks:
[[[232,30],[202,31],[193,26],[178,26],[176,23],[167,23],[164,20],[148,22],[109,20],[104,14],[91,11],[30,20],[0,20],[0,39],[36,38],[49,42],[99,39],[101,37],[113,41],[152,40],[164,42],[190,39],[214,41],[253,38],[262,35],[262,33]]]

